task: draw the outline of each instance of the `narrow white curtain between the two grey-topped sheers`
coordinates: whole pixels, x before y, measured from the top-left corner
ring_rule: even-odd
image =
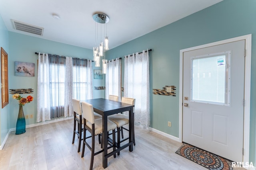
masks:
[[[72,57],[66,57],[66,78],[64,96],[64,117],[74,114],[72,107],[73,96],[73,62]]]

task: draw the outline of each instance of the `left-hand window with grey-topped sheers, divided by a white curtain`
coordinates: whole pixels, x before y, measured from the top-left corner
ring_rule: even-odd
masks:
[[[68,68],[66,57],[50,56],[50,104],[51,118],[62,117],[64,115],[65,100],[67,96],[68,80],[66,74],[72,72],[72,94],[71,98],[79,100],[88,99],[88,91],[90,91],[90,72],[88,72],[88,60],[72,59],[72,68]],[[71,66],[70,66],[71,67]],[[72,91],[71,90],[71,91]],[[90,95],[92,96],[92,95]],[[92,97],[89,97],[92,98]]]

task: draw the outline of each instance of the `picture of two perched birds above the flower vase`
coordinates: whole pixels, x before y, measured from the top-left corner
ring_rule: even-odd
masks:
[[[24,63],[15,61],[14,62],[14,75],[15,76],[28,76],[34,77],[35,76],[35,64],[34,63]]]

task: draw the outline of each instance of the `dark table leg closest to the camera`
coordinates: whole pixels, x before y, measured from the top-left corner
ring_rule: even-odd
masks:
[[[102,166],[103,168],[108,167],[108,158],[106,155],[108,154],[108,121],[107,116],[102,116]]]

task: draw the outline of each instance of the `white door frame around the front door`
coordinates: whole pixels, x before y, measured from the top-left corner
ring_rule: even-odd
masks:
[[[180,95],[179,95],[179,142],[182,142],[182,115],[183,115],[183,53],[187,51],[192,51],[196,49],[211,47],[215,45],[221,45],[225,43],[231,43],[234,41],[245,40],[245,70],[244,70],[244,155],[243,162],[249,162],[249,150],[250,150],[250,92],[251,92],[251,57],[252,57],[252,34],[243,35],[240,37],[234,37],[230,39],[225,39],[222,41],[217,41],[213,43],[208,43],[204,45],[199,45],[196,47],[190,47],[187,49],[180,50]]]

